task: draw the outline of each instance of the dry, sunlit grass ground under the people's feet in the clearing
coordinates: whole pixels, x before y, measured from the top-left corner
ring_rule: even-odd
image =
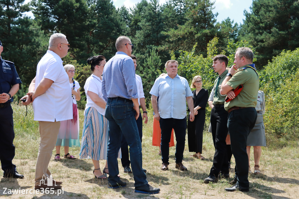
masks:
[[[35,164],[39,145],[38,123],[33,122],[32,107],[28,106],[28,116],[25,118],[25,107],[14,105],[14,119],[16,137],[16,164],[25,179],[4,179],[1,177],[1,188],[8,189],[33,189]],[[214,146],[212,136],[204,133],[203,156],[206,160],[190,158],[192,154],[186,147],[184,151],[184,165],[189,169],[181,172],[175,169],[175,148],[170,148],[169,171],[161,171],[161,156],[158,147],[152,146],[152,115],[144,125],[143,134],[143,168],[147,169],[147,180],[152,186],[159,187],[161,192],[156,195],[134,193],[133,174],[123,173],[120,160],[121,180],[127,186],[121,189],[108,189],[107,180],[94,179],[93,164],[91,160],[76,159],[54,161],[54,154],[50,161],[49,169],[54,179],[63,181],[64,194],[57,195],[3,195],[0,189],[0,198],[299,198],[299,147],[297,145],[283,148],[263,148],[260,160],[261,175],[250,175],[250,192],[225,192],[224,188],[230,186],[228,180],[222,179],[215,184],[204,184],[203,179],[208,176],[212,166]],[[83,111],[80,111],[80,137],[82,135]],[[186,137],[187,140],[187,137]],[[294,143],[294,142],[293,142]],[[79,155],[80,148],[70,148],[70,153]],[[61,151],[63,154],[63,150]],[[253,150],[251,150],[253,168]],[[100,161],[101,169],[105,160]],[[232,167],[234,158],[232,159]],[[2,175],[2,174],[1,174]],[[231,173],[231,177],[233,173]],[[230,178],[232,180],[232,178]]]

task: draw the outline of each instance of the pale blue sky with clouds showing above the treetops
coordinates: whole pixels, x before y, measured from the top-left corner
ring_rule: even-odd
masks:
[[[28,3],[30,0],[25,0]],[[115,7],[125,5],[126,7],[133,7],[140,0],[114,0]],[[160,0],[160,4],[164,4],[166,0]],[[213,1],[213,0],[212,0]],[[218,12],[217,21],[221,22],[226,18],[231,18],[234,22],[243,23],[245,19],[243,11],[250,11],[249,7],[252,4],[252,0],[215,0],[213,12]],[[27,13],[28,16],[32,16],[31,12]]]

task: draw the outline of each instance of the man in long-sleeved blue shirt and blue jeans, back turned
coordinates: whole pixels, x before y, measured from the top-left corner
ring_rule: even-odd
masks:
[[[160,192],[160,189],[150,186],[146,174],[142,171],[141,141],[135,121],[139,117],[138,91],[134,62],[130,57],[134,45],[128,37],[120,36],[115,46],[118,52],[105,64],[102,79],[103,98],[107,102],[105,117],[109,121],[109,188],[126,186],[126,182],[122,182],[118,177],[117,161],[124,136],[130,147],[135,192],[155,194]]]

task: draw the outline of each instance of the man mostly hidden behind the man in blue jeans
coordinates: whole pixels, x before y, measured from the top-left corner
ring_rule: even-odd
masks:
[[[133,59],[134,62],[134,67],[136,71],[137,67],[137,57],[135,55],[131,55],[131,58]],[[142,86],[142,81],[141,77],[137,74],[135,74],[135,79],[136,79],[136,85],[137,85],[137,91],[138,91],[138,103],[139,106],[141,106],[143,114],[139,114],[138,119],[136,120],[138,132],[139,132],[139,137],[140,141],[142,142],[142,120],[144,120],[144,123],[146,124],[148,121],[147,118],[147,107],[145,105],[145,97],[144,97],[144,92],[143,92],[143,86]],[[123,166],[123,172],[125,173],[132,173],[132,170],[130,168],[130,160],[129,160],[129,150],[128,150],[128,143],[126,139],[123,137],[121,141],[121,164]],[[147,172],[146,169],[142,169],[144,172]]]

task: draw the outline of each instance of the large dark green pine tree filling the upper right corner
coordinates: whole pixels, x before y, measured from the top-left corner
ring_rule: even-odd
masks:
[[[245,11],[239,39],[247,40],[259,55],[259,68],[282,50],[299,47],[299,3],[295,0],[254,0]]]

